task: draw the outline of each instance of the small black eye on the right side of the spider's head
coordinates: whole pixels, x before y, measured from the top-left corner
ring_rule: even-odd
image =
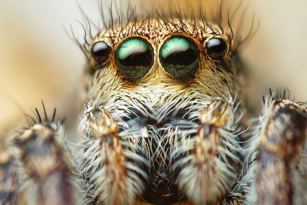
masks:
[[[213,60],[220,60],[224,58],[227,52],[227,44],[221,38],[211,38],[206,45],[208,55]]]

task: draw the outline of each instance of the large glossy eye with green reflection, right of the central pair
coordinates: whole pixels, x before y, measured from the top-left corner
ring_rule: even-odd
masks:
[[[200,51],[187,37],[174,36],[162,46],[160,59],[166,72],[176,77],[191,77],[199,63]]]

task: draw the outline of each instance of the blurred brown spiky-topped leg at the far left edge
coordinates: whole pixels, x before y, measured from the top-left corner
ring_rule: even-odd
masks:
[[[18,204],[78,203],[76,172],[63,140],[62,125],[53,120],[43,121],[40,117],[38,122],[24,128],[15,137],[10,150],[13,160],[5,163],[6,168],[10,169],[3,169],[7,172],[0,180],[0,185],[6,185],[7,191],[11,192],[7,196],[12,197],[2,204],[16,204],[16,196]],[[17,183],[12,181],[12,185],[17,186],[17,189],[8,186],[9,180],[13,180],[16,174],[9,172],[15,170]],[[4,189],[0,188],[3,194]]]

